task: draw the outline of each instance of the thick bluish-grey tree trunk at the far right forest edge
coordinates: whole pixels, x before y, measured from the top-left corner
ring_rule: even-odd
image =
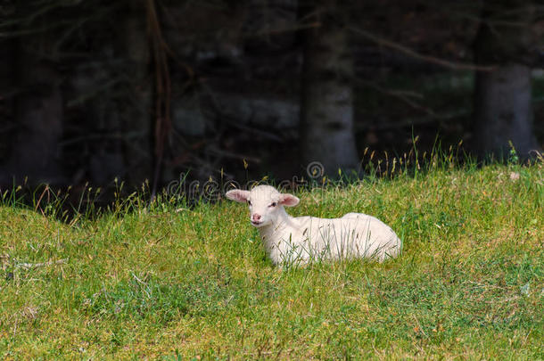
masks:
[[[532,128],[532,15],[532,6],[520,0],[484,9],[475,59],[497,68],[475,78],[474,141],[481,156],[506,157],[509,141],[522,158],[538,148]]]

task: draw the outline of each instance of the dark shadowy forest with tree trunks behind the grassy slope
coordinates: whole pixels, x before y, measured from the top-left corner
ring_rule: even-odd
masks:
[[[0,16],[4,186],[334,175],[415,140],[480,159],[544,140],[537,1],[2,0]]]

